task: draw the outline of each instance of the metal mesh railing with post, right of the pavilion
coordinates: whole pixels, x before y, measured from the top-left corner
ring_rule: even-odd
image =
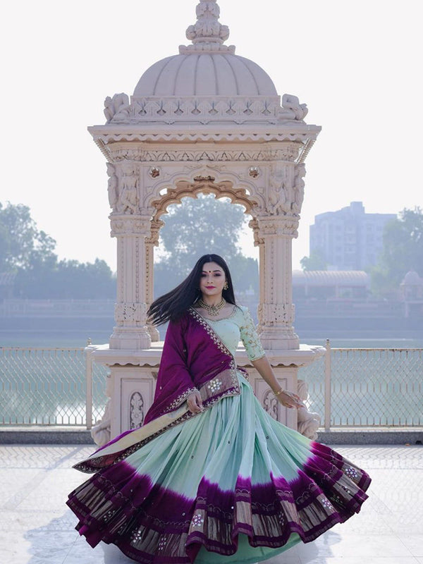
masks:
[[[422,427],[422,348],[331,348],[298,376],[324,428]]]

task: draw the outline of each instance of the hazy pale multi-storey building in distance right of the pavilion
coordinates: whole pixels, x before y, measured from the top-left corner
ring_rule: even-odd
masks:
[[[376,264],[385,223],[396,214],[366,214],[362,202],[314,217],[310,255],[319,252],[329,270],[363,270]]]

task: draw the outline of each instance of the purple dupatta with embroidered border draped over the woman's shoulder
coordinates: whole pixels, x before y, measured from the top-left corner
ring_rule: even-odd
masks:
[[[98,472],[123,460],[154,437],[197,415],[186,399],[200,391],[204,409],[227,396],[238,396],[236,362],[212,326],[194,308],[168,324],[154,402],[142,427],[125,431],[74,468]]]

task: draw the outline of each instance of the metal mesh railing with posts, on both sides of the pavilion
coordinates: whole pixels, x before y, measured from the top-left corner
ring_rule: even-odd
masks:
[[[0,424],[85,425],[106,404],[92,348],[0,348]],[[423,349],[331,348],[298,376],[333,427],[423,426]]]

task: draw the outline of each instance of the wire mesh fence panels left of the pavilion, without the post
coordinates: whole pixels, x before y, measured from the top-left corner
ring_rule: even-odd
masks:
[[[106,372],[92,371],[92,419],[106,405]],[[83,348],[0,348],[0,424],[86,425]]]

